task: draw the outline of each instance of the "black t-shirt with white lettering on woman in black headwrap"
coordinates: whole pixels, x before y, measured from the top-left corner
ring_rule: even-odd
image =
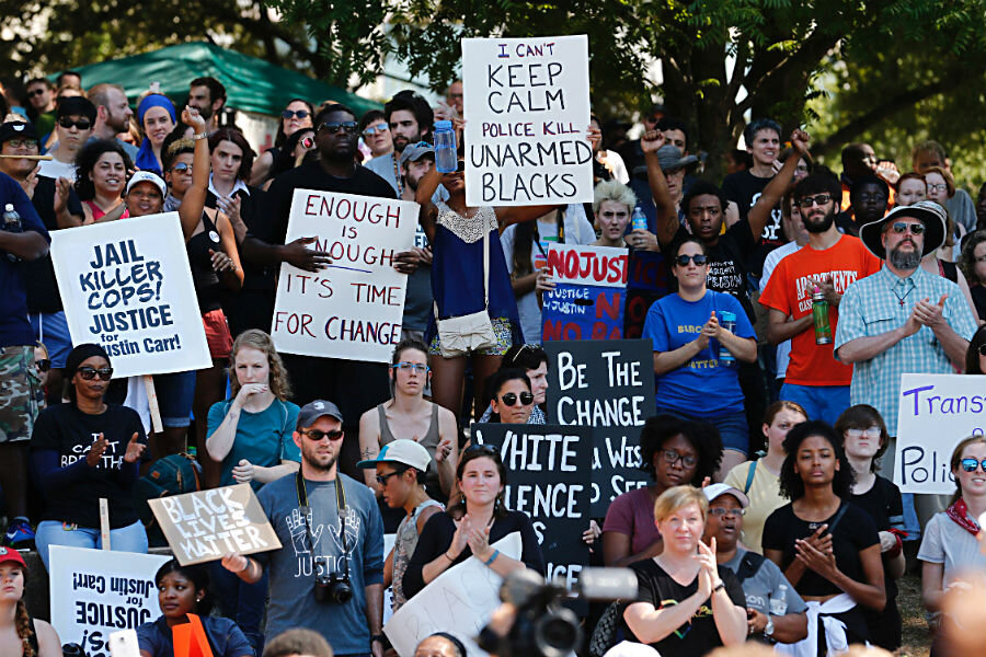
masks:
[[[54,450],[58,466],[84,460],[100,434],[108,445],[95,468],[84,466],[80,475],[46,500],[43,520],[100,527],[100,497],[110,500],[110,527],[117,529],[137,521],[135,480],[122,471],[130,437],[147,443],[140,416],[133,408],[107,404],[101,415],[82,413],[72,404],[56,404],[41,412],[31,435],[32,450]]]

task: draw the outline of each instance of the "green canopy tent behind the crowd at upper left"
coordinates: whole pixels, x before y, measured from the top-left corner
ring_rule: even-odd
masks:
[[[227,107],[241,112],[276,116],[294,97],[310,101],[316,107],[326,100],[343,103],[356,116],[381,108],[379,103],[344,89],[206,42],[170,46],[76,70],[82,74],[82,84],[87,89],[102,82],[119,84],[131,105],[151,82],[159,82],[161,92],[181,106],[188,96],[192,80],[213,77],[226,87]]]

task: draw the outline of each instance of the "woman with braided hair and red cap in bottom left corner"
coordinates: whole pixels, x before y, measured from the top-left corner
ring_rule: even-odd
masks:
[[[4,657],[61,657],[55,627],[32,619],[24,604],[27,566],[16,550],[0,548],[0,655]]]

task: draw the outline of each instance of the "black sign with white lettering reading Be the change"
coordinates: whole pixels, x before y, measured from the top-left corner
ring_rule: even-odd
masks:
[[[656,413],[650,339],[553,341],[548,353],[548,422],[593,427],[592,516],[646,486],[640,431]]]

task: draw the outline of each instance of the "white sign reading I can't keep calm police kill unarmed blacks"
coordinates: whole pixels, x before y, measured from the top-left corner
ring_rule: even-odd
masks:
[[[588,37],[463,38],[466,203],[592,203]]]

